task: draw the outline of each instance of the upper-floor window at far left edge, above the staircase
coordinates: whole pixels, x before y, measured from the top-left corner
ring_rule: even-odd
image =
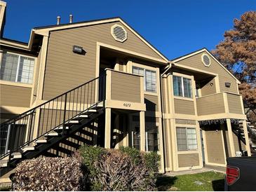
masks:
[[[32,83],[34,73],[34,59],[4,53],[1,60],[0,79],[20,83]]]

